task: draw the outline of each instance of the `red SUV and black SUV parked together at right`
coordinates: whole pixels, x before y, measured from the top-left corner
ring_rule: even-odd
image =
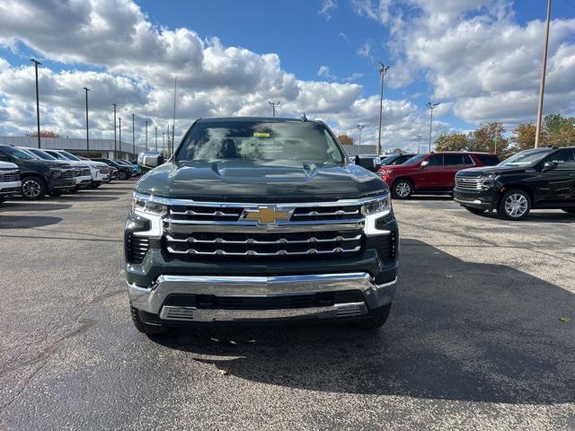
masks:
[[[497,211],[509,220],[531,209],[575,214],[575,146],[535,148],[503,162],[487,153],[418,154],[378,172],[397,199],[449,193],[474,214]]]

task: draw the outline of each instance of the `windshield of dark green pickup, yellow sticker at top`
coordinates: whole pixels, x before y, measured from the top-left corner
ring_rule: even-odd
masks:
[[[177,162],[250,159],[341,164],[332,134],[315,122],[206,121],[191,128]]]

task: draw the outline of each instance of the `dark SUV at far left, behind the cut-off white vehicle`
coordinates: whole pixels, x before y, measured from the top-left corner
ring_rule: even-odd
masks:
[[[34,158],[12,145],[0,145],[0,161],[14,163],[20,169],[22,198],[37,200],[47,193],[57,196],[75,188],[75,170],[67,163]]]

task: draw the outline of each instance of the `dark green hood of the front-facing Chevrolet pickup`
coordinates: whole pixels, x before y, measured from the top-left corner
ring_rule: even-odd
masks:
[[[317,167],[313,163],[234,159],[164,163],[146,173],[136,190],[165,198],[217,202],[304,202],[363,198],[386,192],[387,186],[356,164]]]

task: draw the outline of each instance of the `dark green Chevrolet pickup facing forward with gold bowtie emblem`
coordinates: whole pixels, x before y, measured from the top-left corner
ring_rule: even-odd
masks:
[[[383,325],[399,235],[389,189],[361,167],[376,159],[350,163],[323,122],[277,118],[199,119],[167,163],[143,155],[124,233],[137,330]]]

